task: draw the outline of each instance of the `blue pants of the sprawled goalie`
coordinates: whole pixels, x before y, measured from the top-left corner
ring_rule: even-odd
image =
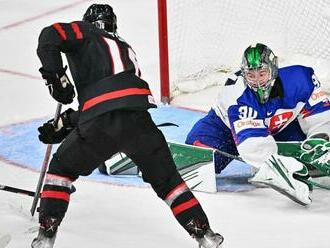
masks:
[[[306,135],[301,130],[298,120],[291,122],[273,137],[276,141],[303,141],[306,139]],[[196,146],[213,147],[232,155],[238,155],[231,130],[217,116],[213,109],[195,123],[187,135],[186,143]],[[232,158],[215,154],[216,173],[220,173],[232,160]]]

